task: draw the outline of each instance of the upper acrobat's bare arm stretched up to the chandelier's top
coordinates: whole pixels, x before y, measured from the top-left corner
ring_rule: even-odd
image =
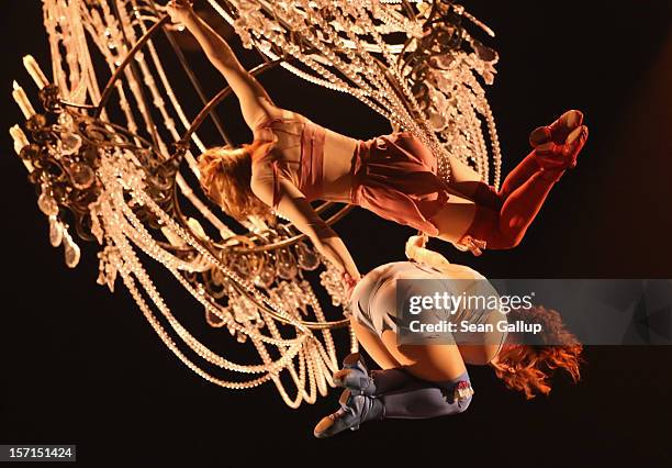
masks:
[[[193,11],[188,0],[172,0],[168,12],[175,22],[180,22],[197,38],[214,67],[238,97],[243,119],[254,130],[255,122],[277,108],[272,100],[236,58],[231,46]]]

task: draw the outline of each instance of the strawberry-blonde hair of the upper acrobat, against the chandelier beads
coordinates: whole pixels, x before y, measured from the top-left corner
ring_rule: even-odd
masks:
[[[250,187],[251,155],[258,148],[257,144],[238,148],[220,146],[208,149],[199,157],[203,191],[239,221],[250,215],[266,221],[273,218],[270,208],[254,194]]]

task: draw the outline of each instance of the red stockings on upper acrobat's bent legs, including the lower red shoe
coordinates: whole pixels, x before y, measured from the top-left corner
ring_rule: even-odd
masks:
[[[485,241],[490,249],[517,246],[552,187],[575,164],[587,140],[587,130],[582,129],[572,143],[549,143],[531,152],[508,174],[499,192],[480,185],[472,196],[477,203],[475,218],[466,236]]]

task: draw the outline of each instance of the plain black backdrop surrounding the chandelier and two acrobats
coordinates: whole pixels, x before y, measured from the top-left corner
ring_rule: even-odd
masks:
[[[591,137],[518,248],[475,259],[434,246],[489,277],[670,278],[671,2],[466,5],[499,33],[490,43],[502,56],[490,98],[505,169],[526,154],[529,131],[567,109],[585,112]],[[371,423],[329,441],[314,439],[312,428],[333,411],[336,392],[294,411],[268,385],[234,392],[201,380],[125,292],[96,286],[93,249],[68,270],[61,250],[48,245],[46,220],[5,132],[20,118],[11,80],[34,92],[22,55],[48,69],[42,13],[35,0],[2,7],[0,443],[78,444],[85,466],[669,466],[670,348],[589,348],[579,386],[559,376],[549,398],[531,402],[505,390],[490,369],[473,368],[477,395],[467,413]],[[213,91],[222,85],[212,68],[202,70]],[[264,82],[280,105],[334,130],[361,138],[389,130],[361,104],[288,74]],[[238,132],[240,141],[248,136]],[[411,233],[363,211],[338,231],[363,271],[400,259]],[[202,325],[200,308],[172,305],[206,344],[234,353],[221,331]]]

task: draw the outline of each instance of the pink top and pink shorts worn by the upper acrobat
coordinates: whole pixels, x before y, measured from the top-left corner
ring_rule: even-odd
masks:
[[[292,135],[279,149],[300,145],[298,161],[269,152],[255,156],[255,161],[269,157],[272,167],[273,208],[279,202],[279,179],[284,177],[309,201],[322,199],[325,129],[305,118],[272,118],[255,126],[255,137],[273,142]],[[393,133],[369,141],[359,141],[351,158],[350,202],[381,218],[412,226],[429,235],[438,230],[429,222],[453,192],[436,176],[436,158],[411,133]]]

